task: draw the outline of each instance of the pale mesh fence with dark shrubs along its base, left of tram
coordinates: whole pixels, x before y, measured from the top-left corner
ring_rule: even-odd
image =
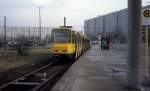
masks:
[[[30,47],[45,47],[51,42],[51,30],[53,27],[0,27],[0,48],[6,45],[7,49],[14,48],[20,42]],[[6,32],[6,33],[5,33]],[[41,38],[40,38],[41,33]],[[6,36],[6,40],[5,40]]]

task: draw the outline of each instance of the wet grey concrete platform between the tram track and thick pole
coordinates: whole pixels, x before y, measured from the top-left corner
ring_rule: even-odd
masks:
[[[125,77],[125,61],[124,52],[101,51],[94,46],[70,67],[51,91],[126,91],[125,82],[118,80]]]

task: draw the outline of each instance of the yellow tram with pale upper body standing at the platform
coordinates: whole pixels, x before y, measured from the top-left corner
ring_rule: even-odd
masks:
[[[77,59],[89,48],[89,39],[76,31],[71,26],[61,26],[52,30],[53,56],[67,55]]]

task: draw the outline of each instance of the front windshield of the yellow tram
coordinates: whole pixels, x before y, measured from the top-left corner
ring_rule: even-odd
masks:
[[[53,42],[54,43],[68,43],[69,40],[69,32],[67,31],[54,31],[53,32]]]

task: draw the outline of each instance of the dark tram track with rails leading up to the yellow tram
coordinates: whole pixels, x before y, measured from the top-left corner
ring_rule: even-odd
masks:
[[[71,63],[54,61],[14,81],[4,84],[0,91],[47,91],[50,90]]]

